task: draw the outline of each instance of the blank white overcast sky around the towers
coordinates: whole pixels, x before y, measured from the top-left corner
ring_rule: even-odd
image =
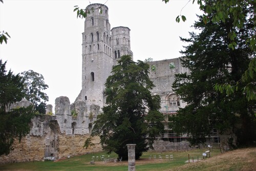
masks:
[[[90,0],[91,4],[104,1]],[[59,96],[68,96],[73,103],[81,90],[82,32],[84,19],[77,19],[74,6],[86,8],[88,0],[4,0],[0,3],[0,31],[11,36],[0,44],[0,58],[7,61],[7,69],[15,74],[29,69],[42,74],[49,88],[48,104],[55,105]],[[188,0],[109,0],[111,28],[131,29],[131,50],[134,60],[164,60],[180,57],[184,45],[181,37],[188,37],[197,19],[199,6]],[[180,14],[186,22],[176,23]],[[53,108],[54,112],[54,108]]]

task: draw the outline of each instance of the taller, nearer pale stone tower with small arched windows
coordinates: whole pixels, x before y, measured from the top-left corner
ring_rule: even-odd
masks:
[[[114,64],[108,7],[102,4],[87,6],[90,14],[84,21],[82,33],[82,91],[86,106],[104,105],[104,83]]]

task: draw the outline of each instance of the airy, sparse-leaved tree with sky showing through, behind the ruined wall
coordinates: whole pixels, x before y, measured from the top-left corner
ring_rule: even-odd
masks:
[[[21,73],[24,82],[25,98],[32,102],[36,110],[46,113],[46,102],[49,97],[42,90],[47,89],[49,86],[45,84],[44,77],[33,70],[24,71]]]

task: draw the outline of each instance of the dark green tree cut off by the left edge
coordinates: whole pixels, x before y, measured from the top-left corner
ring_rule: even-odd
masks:
[[[19,141],[30,131],[31,118],[35,112],[33,106],[9,110],[11,104],[24,97],[23,78],[14,75],[11,70],[6,73],[6,62],[0,60],[0,155],[9,154],[15,138]]]

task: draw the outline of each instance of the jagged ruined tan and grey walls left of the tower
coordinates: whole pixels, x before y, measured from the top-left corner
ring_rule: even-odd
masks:
[[[28,101],[23,100],[12,106],[15,108],[28,104]],[[72,116],[71,110],[76,111],[77,115]],[[56,115],[42,114],[34,117],[30,133],[20,143],[15,140],[10,154],[0,156],[0,163],[42,161],[45,157],[59,159],[101,151],[100,145],[83,149],[84,141],[90,136],[92,123],[99,113],[99,106],[92,105],[89,111],[92,117],[84,102],[78,101],[70,105],[68,97],[58,97],[55,100]],[[99,142],[99,138],[95,138],[93,142]]]

